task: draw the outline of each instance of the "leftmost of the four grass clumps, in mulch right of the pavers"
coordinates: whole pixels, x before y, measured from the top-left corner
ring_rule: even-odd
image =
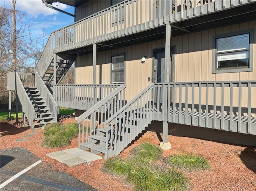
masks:
[[[131,163],[124,158],[113,156],[107,158],[102,164],[101,170],[110,175],[124,176],[131,169]]]

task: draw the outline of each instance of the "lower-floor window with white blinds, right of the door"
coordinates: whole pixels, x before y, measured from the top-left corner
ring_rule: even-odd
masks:
[[[212,73],[252,71],[252,32],[214,37]]]

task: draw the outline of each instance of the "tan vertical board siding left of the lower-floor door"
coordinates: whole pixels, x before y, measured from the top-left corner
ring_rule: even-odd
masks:
[[[152,78],[152,49],[164,47],[165,40],[158,40],[110,51],[97,52],[96,83],[110,84],[111,56],[125,54],[125,82],[126,100],[131,100],[151,83]],[[146,63],[141,63],[141,58],[146,56]],[[76,57],[76,84],[92,84],[92,54]],[[100,67],[102,69],[100,70]],[[150,78],[150,81],[148,81]]]

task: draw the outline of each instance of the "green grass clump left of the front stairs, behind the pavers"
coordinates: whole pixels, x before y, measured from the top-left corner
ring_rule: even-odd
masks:
[[[44,129],[44,140],[42,146],[48,148],[63,147],[70,144],[70,140],[75,138],[78,134],[77,123],[52,123]]]

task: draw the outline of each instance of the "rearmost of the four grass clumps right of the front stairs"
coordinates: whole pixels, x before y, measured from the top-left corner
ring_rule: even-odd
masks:
[[[155,145],[144,142],[131,150],[132,156],[148,159],[149,161],[156,161],[162,157],[162,150]]]

